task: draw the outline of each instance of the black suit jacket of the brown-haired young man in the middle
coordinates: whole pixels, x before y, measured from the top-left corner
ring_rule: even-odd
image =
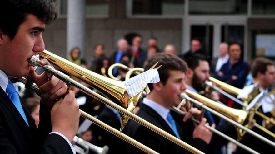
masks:
[[[138,111],[137,115],[149,123],[157,126],[158,128],[163,129],[164,131],[172,134],[173,136],[176,136],[173,132],[173,130],[169,127],[169,125],[164,121],[164,119],[152,108],[149,106],[142,104],[140,107],[140,110]],[[183,132],[183,128],[176,122],[176,126],[178,129],[178,133],[183,141],[187,141],[187,136],[190,136],[190,134],[185,135]],[[171,154],[171,153],[184,153],[187,152],[184,148],[176,145],[175,143],[167,140],[166,138],[160,136],[157,133],[154,133],[153,131],[149,130],[148,128],[145,128],[143,125],[131,120],[127,127],[127,135],[136,139],[137,141],[143,143],[144,145],[152,148],[156,152],[159,152],[161,154]],[[189,138],[188,138],[189,139]],[[201,139],[193,139],[191,141],[191,144],[193,147],[201,150],[202,152],[205,152],[207,149],[206,142],[202,141]],[[136,147],[129,146],[128,147],[128,153],[145,153],[141,150],[139,150]],[[189,153],[189,152],[187,152]]]

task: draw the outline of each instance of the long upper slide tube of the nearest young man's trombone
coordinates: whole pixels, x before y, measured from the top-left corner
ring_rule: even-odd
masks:
[[[36,63],[36,65],[39,66],[39,67],[44,68],[46,72],[55,75],[57,78],[59,78],[60,80],[66,82],[68,85],[76,86],[79,90],[83,91],[84,93],[92,96],[93,98],[101,101],[102,103],[105,103],[105,104],[113,107],[114,109],[118,110],[120,113],[127,115],[129,118],[135,120],[139,124],[142,124],[143,126],[151,129],[152,131],[158,133],[159,135],[161,135],[161,136],[167,138],[168,140],[178,144],[179,146],[185,148],[186,150],[188,150],[192,153],[200,153],[200,154],[203,153],[200,150],[198,150],[198,149],[192,147],[191,145],[183,142],[182,140],[176,138],[175,136],[173,136],[173,135],[165,132],[164,130],[158,128],[157,126],[155,126],[155,125],[147,122],[146,120],[138,117],[137,115],[133,114],[132,112],[129,112],[128,110],[126,110],[123,107],[117,105],[116,103],[112,102],[111,100],[108,100],[107,98],[101,96],[100,94],[92,91],[88,87],[83,86],[82,84],[76,82],[75,80],[70,78],[68,75],[64,74],[63,72],[55,70],[52,66],[49,66],[49,65],[42,66],[38,63]]]

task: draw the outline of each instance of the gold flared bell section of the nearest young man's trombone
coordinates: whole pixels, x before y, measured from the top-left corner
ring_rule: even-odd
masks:
[[[54,66],[63,70],[67,74],[71,74],[82,80],[83,82],[86,82],[97,91],[99,91],[101,95],[108,98],[109,100],[112,100],[113,102],[122,106],[124,109],[130,112],[133,112],[140,96],[142,96],[141,91],[136,96],[130,97],[128,95],[124,82],[104,77],[100,74],[78,66],[77,64],[74,64],[64,58],[61,58],[47,50],[44,50],[40,54],[40,57],[47,59]],[[121,119],[120,131],[122,131],[126,123],[128,122],[129,117],[121,113],[119,114]]]

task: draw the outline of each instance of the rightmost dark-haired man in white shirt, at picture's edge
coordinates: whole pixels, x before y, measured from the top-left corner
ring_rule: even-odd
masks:
[[[251,91],[253,91],[252,93],[255,93],[257,95],[260,92],[263,92],[264,95],[266,96],[263,97],[263,99],[260,101],[261,106],[257,109],[257,111],[266,115],[267,117],[272,117],[271,112],[275,108],[275,105],[274,105],[274,102],[272,102],[272,100],[270,101],[270,99],[268,98],[269,95],[267,94],[269,92],[269,88],[274,86],[274,81],[275,81],[274,62],[272,62],[267,58],[258,57],[254,59],[250,68],[251,68],[251,74],[255,84],[244,87],[243,93],[247,94],[247,92],[250,93]],[[266,120],[264,120],[262,117],[260,117],[257,114],[254,115],[254,119],[256,120],[256,123],[258,123],[259,125],[262,125],[263,127],[266,127],[272,133],[275,133],[275,127],[272,123],[269,122],[269,124],[267,124]],[[252,130],[261,134],[265,138],[271,141],[274,141],[274,138],[267,135],[267,133],[264,133],[258,128],[252,128]],[[270,151],[274,150],[274,147],[271,147],[263,142],[255,142],[256,140],[257,139],[255,137],[251,136],[250,134],[246,134],[243,137],[242,142],[244,144],[247,144],[247,146],[249,147],[254,147],[255,150],[260,153],[270,153]],[[243,151],[240,148],[237,148],[237,153],[247,153],[247,152]]]

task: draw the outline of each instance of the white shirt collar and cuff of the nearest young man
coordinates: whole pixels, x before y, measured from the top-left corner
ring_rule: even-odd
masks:
[[[0,86],[1,86],[1,88],[2,88],[4,91],[7,90],[8,81],[9,81],[9,79],[8,79],[8,76],[6,75],[6,73],[4,73],[2,70],[0,70]],[[8,94],[7,94],[7,95],[8,95]],[[76,154],[76,151],[75,151],[75,149],[73,148],[72,143],[71,143],[71,142],[69,141],[69,139],[66,138],[63,134],[58,133],[58,132],[51,132],[51,133],[49,133],[49,134],[58,134],[58,135],[60,135],[61,137],[63,137],[63,138],[68,142],[68,144],[70,145],[70,147],[71,147],[73,153]]]

